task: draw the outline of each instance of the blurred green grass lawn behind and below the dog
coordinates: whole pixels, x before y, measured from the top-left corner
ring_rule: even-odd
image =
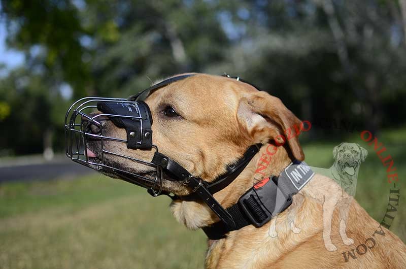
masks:
[[[400,132],[400,133],[398,133]],[[382,134],[395,161],[401,196],[406,176],[405,132]],[[356,199],[379,222],[389,187],[373,147],[358,177]],[[338,142],[303,143],[307,162],[329,167]],[[170,199],[95,174],[75,180],[0,185],[0,268],[202,268],[206,239],[189,231],[168,210]],[[391,230],[406,241],[402,198]]]

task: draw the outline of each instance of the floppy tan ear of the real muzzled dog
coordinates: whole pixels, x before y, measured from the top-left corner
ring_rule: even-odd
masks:
[[[269,139],[282,145],[285,142],[297,160],[303,160],[304,154],[297,135],[286,138],[285,130],[295,134],[301,121],[285,107],[282,101],[264,91],[251,91],[240,100],[239,123],[253,143],[267,143]]]

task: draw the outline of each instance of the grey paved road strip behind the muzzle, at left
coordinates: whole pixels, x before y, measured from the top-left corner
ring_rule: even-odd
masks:
[[[75,163],[68,158],[51,162],[37,162],[0,166],[0,184],[9,181],[49,180],[61,177],[76,177],[96,173],[94,170]]]

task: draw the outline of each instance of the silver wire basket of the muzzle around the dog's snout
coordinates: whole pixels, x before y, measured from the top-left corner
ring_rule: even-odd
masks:
[[[116,115],[107,113],[97,113],[98,102],[114,102],[123,106],[129,106],[134,111],[134,116]],[[123,98],[104,98],[104,97],[85,97],[77,100],[66,112],[65,115],[65,149],[66,156],[71,160],[90,167],[99,172],[106,172],[113,174],[118,178],[136,184],[148,189],[148,192],[157,196],[162,191],[163,173],[161,167],[156,164],[141,160],[138,158],[123,155],[119,152],[112,152],[105,148],[106,141],[116,141],[119,143],[127,143],[126,139],[109,137],[104,135],[104,128],[102,121],[112,118],[131,119],[140,124],[142,131],[143,119],[140,115],[140,109],[137,102],[131,102]],[[96,127],[98,132],[91,131],[91,126]],[[88,142],[97,141],[99,143],[100,152],[97,158],[88,156]],[[142,141],[137,141],[141,144]],[[152,148],[158,152],[158,148],[152,145]],[[130,160],[133,162],[141,163],[147,166],[154,167],[155,172],[151,177],[146,177],[137,173],[125,171],[119,167],[114,167],[111,163],[106,161],[108,156],[116,156],[123,158],[123,160]]]

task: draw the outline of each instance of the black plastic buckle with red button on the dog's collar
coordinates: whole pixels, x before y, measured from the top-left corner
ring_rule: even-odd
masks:
[[[288,208],[292,197],[285,196],[273,180],[265,178],[244,193],[238,203],[252,224],[261,227]]]

